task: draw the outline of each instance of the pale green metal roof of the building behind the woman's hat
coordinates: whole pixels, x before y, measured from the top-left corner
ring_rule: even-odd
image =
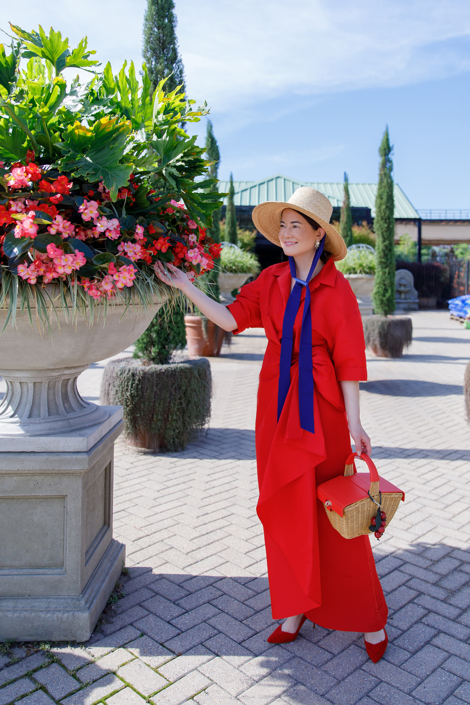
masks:
[[[234,181],[235,206],[257,206],[265,201],[287,201],[300,186],[310,186],[328,196],[333,207],[342,205],[343,184],[319,183],[311,181],[295,181],[294,179],[276,174],[262,181]],[[227,192],[230,181],[219,181],[218,190]],[[359,208],[370,208],[372,217],[376,214],[376,183],[350,183],[351,205]],[[418,212],[404,194],[400,186],[394,185],[395,218],[419,218]],[[225,204],[226,199],[224,200]]]

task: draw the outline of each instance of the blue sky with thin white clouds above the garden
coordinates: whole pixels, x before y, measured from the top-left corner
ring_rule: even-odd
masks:
[[[22,0],[120,68],[141,63],[145,0]],[[221,178],[374,181],[385,123],[417,208],[470,207],[470,4],[465,0],[175,0],[187,90],[206,99]],[[4,39],[8,39],[4,37]],[[204,139],[205,124],[192,126]]]

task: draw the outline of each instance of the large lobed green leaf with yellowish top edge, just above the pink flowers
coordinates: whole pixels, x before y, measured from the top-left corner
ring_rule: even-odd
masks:
[[[90,182],[102,179],[113,200],[116,200],[118,188],[128,183],[132,173],[132,164],[119,164],[131,126],[128,121],[118,120],[101,118],[91,129],[75,123],[63,143],[57,145],[66,155],[61,160],[62,168]]]

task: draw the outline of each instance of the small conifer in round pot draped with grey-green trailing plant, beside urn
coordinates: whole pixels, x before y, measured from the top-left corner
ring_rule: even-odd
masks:
[[[132,446],[183,450],[209,420],[211,366],[205,357],[172,359],[185,345],[183,311],[165,304],[136,341],[134,359],[106,364],[101,403],[123,405]]]

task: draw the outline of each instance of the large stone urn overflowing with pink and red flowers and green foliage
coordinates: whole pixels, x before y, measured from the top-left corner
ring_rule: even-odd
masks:
[[[53,29],[11,30],[9,51],[0,44],[0,436],[95,422],[74,380],[171,305],[155,263],[197,280],[220,251],[205,232],[220,195],[198,180],[209,162],[180,126],[205,104],[166,94],[164,80],[152,94],[145,66],[140,80],[132,63],[99,71],[86,37],[72,49]],[[41,385],[27,391],[39,377],[56,384],[58,407],[35,400]]]

